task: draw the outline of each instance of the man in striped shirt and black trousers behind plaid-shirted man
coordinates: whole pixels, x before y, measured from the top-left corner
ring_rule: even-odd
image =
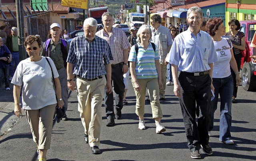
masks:
[[[102,24],[104,28],[96,33],[96,36],[108,41],[114,60],[111,61],[112,76],[111,79],[116,93],[116,118],[121,119],[121,110],[124,99],[124,77],[123,74],[128,71],[128,52],[130,44],[124,31],[113,26],[113,16],[110,12],[102,14]],[[114,126],[114,96],[113,93],[106,92],[104,95],[106,117],[108,122],[106,126]]]

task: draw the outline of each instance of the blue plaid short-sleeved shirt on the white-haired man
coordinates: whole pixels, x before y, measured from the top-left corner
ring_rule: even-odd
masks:
[[[70,43],[67,62],[73,64],[73,74],[84,79],[106,75],[104,64],[113,60],[108,42],[98,36],[88,42],[84,35],[75,37]]]

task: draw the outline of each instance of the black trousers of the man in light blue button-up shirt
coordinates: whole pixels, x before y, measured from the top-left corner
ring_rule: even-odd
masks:
[[[210,75],[194,76],[181,72],[179,82],[182,96],[179,98],[185,126],[188,148],[199,150],[200,145],[209,143],[208,126],[211,116],[211,82]],[[199,116],[196,124],[196,103],[199,105]]]

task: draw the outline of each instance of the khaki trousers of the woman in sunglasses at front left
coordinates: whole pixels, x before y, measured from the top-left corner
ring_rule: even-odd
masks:
[[[24,110],[33,140],[39,149],[50,149],[55,107],[56,104],[51,104],[39,110]]]

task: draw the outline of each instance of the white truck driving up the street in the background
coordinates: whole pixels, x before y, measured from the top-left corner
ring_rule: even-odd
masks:
[[[129,27],[140,27],[142,24],[146,23],[146,14],[140,13],[129,13],[128,14]]]

